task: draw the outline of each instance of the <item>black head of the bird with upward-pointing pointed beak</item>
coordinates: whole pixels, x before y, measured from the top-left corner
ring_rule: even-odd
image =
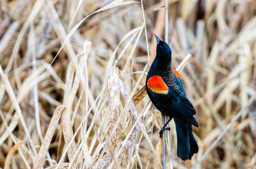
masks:
[[[171,62],[172,61],[172,50],[169,47],[169,45],[161,40],[156,34],[156,41],[157,41],[157,47],[156,47],[156,57],[160,61],[165,62]]]

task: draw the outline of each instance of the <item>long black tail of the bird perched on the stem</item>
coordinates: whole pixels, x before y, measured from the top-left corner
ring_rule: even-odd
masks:
[[[177,132],[177,156],[182,160],[191,159],[198,152],[198,145],[192,133],[192,126],[174,118]]]

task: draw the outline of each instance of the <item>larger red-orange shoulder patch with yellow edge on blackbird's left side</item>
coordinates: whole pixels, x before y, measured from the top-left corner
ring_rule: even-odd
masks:
[[[147,86],[152,92],[158,94],[168,94],[168,86],[164,83],[163,78],[154,75],[148,79]]]

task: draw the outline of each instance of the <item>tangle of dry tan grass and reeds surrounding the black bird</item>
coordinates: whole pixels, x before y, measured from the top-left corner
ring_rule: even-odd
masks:
[[[173,168],[255,168],[256,2],[168,4],[172,65],[183,61],[200,126],[184,162],[170,123]],[[161,168],[161,114],[143,86],[163,5],[1,1],[0,168]]]

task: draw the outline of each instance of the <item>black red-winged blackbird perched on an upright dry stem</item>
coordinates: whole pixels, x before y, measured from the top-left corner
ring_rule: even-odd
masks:
[[[198,145],[192,133],[192,125],[198,128],[193,117],[195,108],[189,101],[182,84],[182,77],[171,66],[172,50],[156,34],[156,57],[150,66],[146,80],[147,94],[154,106],[169,119],[159,132],[163,136],[168,122],[174,119],[177,133],[177,156],[183,161],[191,159],[198,152]]]

